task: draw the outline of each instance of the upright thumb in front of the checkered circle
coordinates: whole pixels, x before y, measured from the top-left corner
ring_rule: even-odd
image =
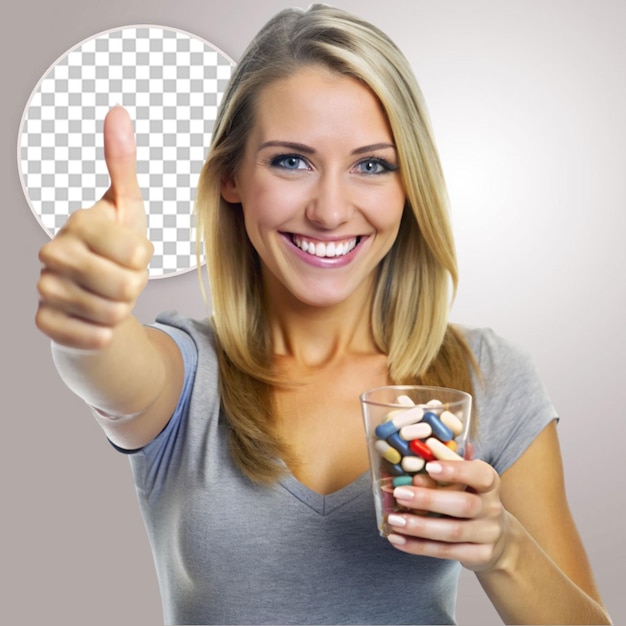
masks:
[[[126,109],[113,107],[104,119],[104,159],[111,185],[105,199],[128,225],[145,225],[143,198],[137,180],[137,145],[133,124]]]

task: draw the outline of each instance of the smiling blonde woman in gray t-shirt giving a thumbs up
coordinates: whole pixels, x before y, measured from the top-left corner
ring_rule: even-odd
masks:
[[[198,190],[208,322],[132,316],[152,247],[125,111],[104,135],[111,187],[42,248],[37,324],[130,455],[167,623],[450,623],[459,563],[504,621],[610,623],[534,369],[448,323],[443,176],[384,34],[315,5],[243,55]],[[477,458],[396,489],[415,513],[384,540],[359,395],[407,382],[473,393]]]

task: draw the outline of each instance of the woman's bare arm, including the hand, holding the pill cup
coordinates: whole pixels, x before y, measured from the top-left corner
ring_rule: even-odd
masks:
[[[450,518],[400,516],[397,548],[475,570],[505,623],[611,623],[567,505],[554,423],[501,478],[482,461],[427,469],[431,478],[404,488],[401,503]],[[434,480],[468,489],[434,489]]]

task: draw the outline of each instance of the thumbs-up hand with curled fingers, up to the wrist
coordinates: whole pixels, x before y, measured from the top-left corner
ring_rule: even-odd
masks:
[[[107,192],[93,207],[72,213],[39,252],[36,323],[71,348],[100,349],[113,341],[147,284],[154,251],[146,237],[133,127],[121,107],[104,121],[104,155]]]

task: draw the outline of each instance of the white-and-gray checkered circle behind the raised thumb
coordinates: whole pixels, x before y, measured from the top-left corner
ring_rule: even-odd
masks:
[[[102,126],[121,104],[135,124],[150,278],[196,267],[193,203],[233,67],[211,44],[161,26],[100,33],[62,56],[33,91],[19,134],[22,186],[44,230],[54,236],[108,188]]]

